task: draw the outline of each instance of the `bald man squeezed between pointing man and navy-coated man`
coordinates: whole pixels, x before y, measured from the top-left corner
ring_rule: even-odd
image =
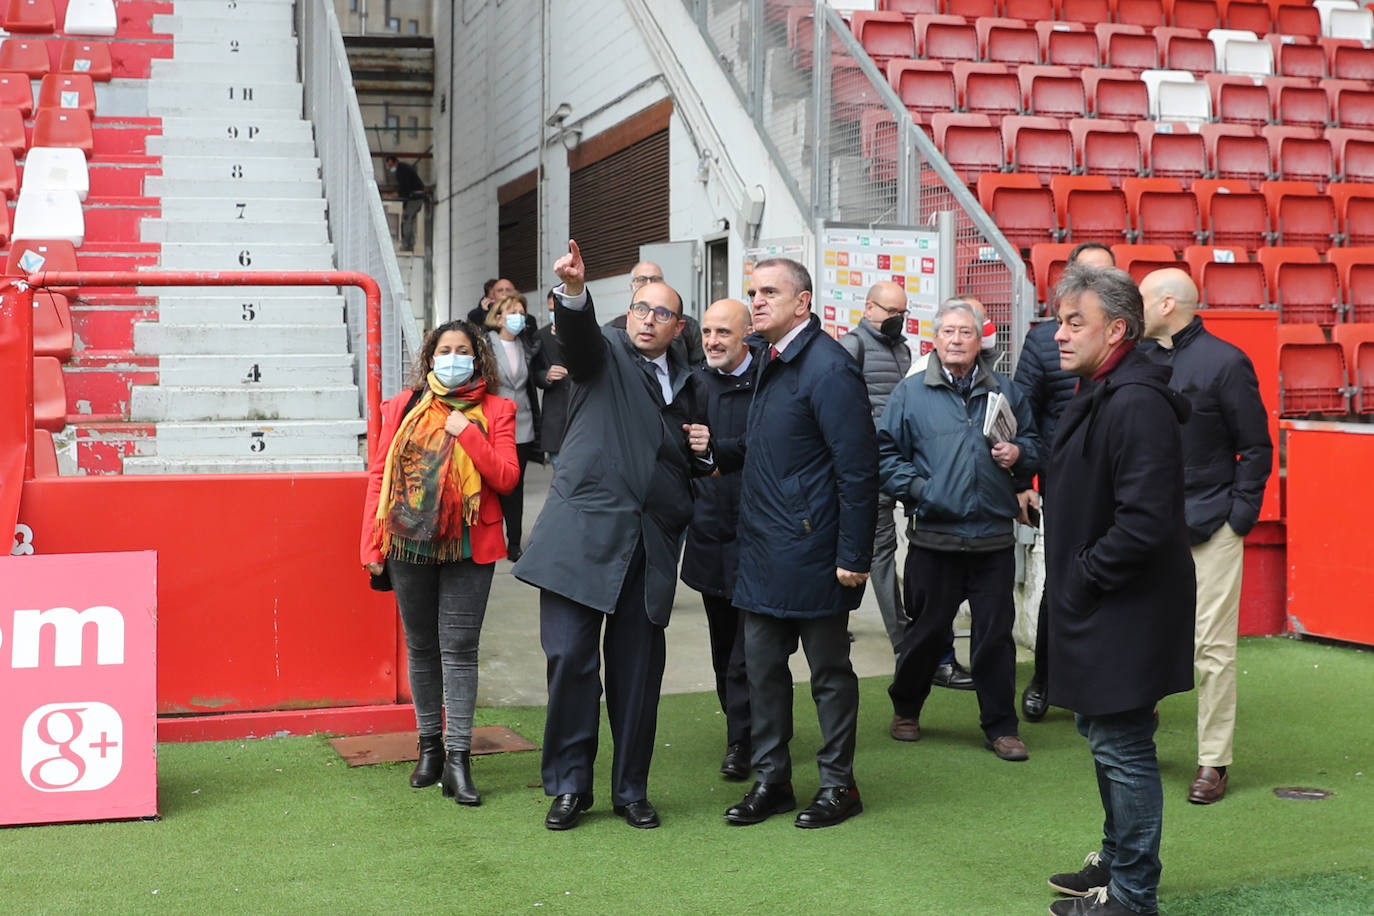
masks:
[[[706,364],[695,369],[697,389],[706,398],[706,426],[714,442],[727,446],[745,434],[749,402],[754,396],[757,353],[745,338],[750,327],[749,306],[738,299],[713,302],[701,321],[701,342]],[[745,670],[745,615],[735,607],[735,573],[739,548],[739,474],[692,481],[692,519],[687,527],[682,580],[701,592],[710,630],[710,666],[716,673],[716,696],[725,715],[725,757],[720,772],[725,779],[749,776],[753,744],[749,740],[749,677]]]

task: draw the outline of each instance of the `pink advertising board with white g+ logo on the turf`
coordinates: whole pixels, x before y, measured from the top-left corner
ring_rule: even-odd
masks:
[[[0,558],[0,824],[157,816],[157,553]]]

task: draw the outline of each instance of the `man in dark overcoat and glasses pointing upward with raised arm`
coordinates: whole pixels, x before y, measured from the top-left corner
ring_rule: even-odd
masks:
[[[691,519],[691,478],[709,474],[709,430],[691,372],[669,353],[682,298],[650,283],[627,330],[596,324],[576,242],[554,265],[555,324],[574,387],[567,431],[544,509],[515,577],[540,589],[548,658],[541,773],[554,797],[544,824],[567,829],[592,805],[600,722],[602,629],[606,713],[616,740],[614,812],[658,827],[649,764],[664,676],[664,628],[677,582],[677,548]],[[690,433],[688,433],[690,430]]]

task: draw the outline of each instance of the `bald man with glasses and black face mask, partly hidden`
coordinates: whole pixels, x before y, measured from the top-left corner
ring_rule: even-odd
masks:
[[[874,423],[882,416],[892,389],[897,387],[897,382],[911,368],[905,330],[907,291],[883,280],[868,290],[859,327],[840,338],[840,346],[859,363],[859,371],[863,372]],[[892,519],[896,507],[897,501],[890,496],[878,494],[878,527],[872,538],[870,570],[878,614],[882,615],[882,625],[894,652],[901,645],[901,632],[907,625],[907,615],[901,610],[901,588],[897,585],[897,526]]]

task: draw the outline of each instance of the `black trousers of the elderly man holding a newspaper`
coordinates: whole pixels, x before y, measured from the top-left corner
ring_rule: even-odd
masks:
[[[897,715],[919,718],[930,695],[930,680],[945,651],[949,623],[959,603],[973,610],[970,658],[978,692],[978,720],[989,739],[1017,733],[1014,695],[1017,647],[1017,563],[1013,548],[988,553],[945,553],[911,545],[907,551],[907,632],[897,652],[897,670],[888,695]]]

